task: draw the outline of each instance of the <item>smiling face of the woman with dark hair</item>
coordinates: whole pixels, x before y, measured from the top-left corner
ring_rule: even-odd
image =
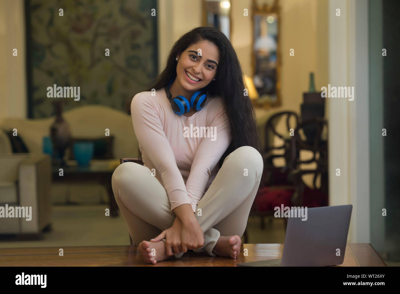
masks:
[[[176,77],[179,84],[187,91],[194,91],[207,86],[215,77],[220,53],[213,43],[200,41],[190,45],[177,57]]]

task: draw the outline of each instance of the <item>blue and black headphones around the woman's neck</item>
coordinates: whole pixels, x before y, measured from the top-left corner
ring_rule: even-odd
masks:
[[[172,110],[178,115],[182,115],[184,113],[187,113],[190,111],[190,107],[200,110],[204,107],[204,104],[206,104],[207,101],[207,94],[203,92],[204,88],[202,88],[200,91],[195,92],[192,95],[192,98],[190,98],[190,102],[186,97],[178,95],[175,98],[172,98],[172,94],[170,92],[170,85],[172,82],[175,80],[173,78],[168,86],[165,86],[165,93],[167,94],[167,98],[171,104]]]

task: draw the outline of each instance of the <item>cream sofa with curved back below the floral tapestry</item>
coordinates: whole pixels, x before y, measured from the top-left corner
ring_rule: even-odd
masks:
[[[110,136],[114,136],[113,158],[92,160],[92,162],[101,164],[107,161],[108,166],[116,167],[120,158],[138,157],[138,141],[134,134],[131,116],[125,112],[102,105],[85,105],[66,110],[62,116],[70,124],[74,138],[104,138],[106,128],[110,130]],[[30,154],[43,154],[42,140],[44,136],[49,136],[50,125],[54,119],[54,116],[43,119],[0,118],[0,154],[2,156],[12,154],[11,142],[1,129],[14,128],[17,129],[18,137],[23,140]],[[7,166],[0,168],[5,173],[9,170]],[[53,183],[51,188],[53,204],[105,204],[109,200],[106,189],[96,183]]]

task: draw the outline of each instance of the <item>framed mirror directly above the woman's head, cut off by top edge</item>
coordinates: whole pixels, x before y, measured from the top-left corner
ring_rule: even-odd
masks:
[[[231,34],[231,1],[230,0],[202,0],[203,26],[217,28],[230,40]]]

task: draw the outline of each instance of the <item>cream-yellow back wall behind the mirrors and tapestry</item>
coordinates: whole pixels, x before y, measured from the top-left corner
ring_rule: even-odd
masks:
[[[299,112],[302,92],[308,89],[308,74],[315,72],[316,88],[327,84],[327,2],[285,0],[281,6],[282,107],[271,112]],[[243,16],[243,9],[249,16]],[[188,13],[192,12],[192,13]],[[185,32],[201,26],[202,2],[158,0],[159,71],[169,50]],[[251,75],[251,0],[232,0],[232,36],[244,74]],[[0,2],[0,118],[26,117],[24,1]],[[12,58],[12,48],[18,57]],[[289,56],[294,48],[295,55]],[[328,113],[328,112],[327,112]]]

